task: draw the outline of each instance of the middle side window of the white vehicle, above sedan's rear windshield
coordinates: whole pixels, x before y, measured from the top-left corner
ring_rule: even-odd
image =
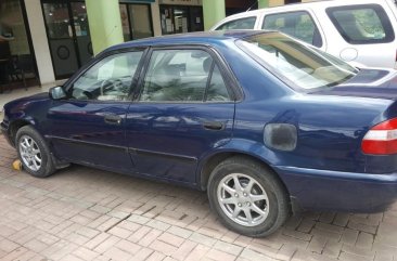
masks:
[[[322,45],[311,15],[304,11],[266,15],[262,29],[279,30],[315,47]]]

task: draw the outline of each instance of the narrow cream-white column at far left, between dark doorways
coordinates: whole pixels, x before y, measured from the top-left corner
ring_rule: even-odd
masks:
[[[40,83],[53,83],[55,82],[55,75],[54,68],[52,67],[50,47],[47,40],[44,17],[42,16],[40,0],[25,0],[25,6]]]

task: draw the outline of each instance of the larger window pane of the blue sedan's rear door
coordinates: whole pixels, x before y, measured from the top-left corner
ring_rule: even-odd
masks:
[[[202,50],[153,51],[140,101],[202,102],[210,55]]]

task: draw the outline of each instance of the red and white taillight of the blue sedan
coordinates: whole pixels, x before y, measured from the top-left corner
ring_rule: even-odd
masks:
[[[361,149],[364,154],[397,154],[397,118],[371,128],[362,139]]]

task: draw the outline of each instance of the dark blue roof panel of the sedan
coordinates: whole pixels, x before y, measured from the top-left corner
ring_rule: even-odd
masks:
[[[168,35],[159,37],[144,38],[132,40],[120,44],[113,45],[104,52],[116,51],[119,49],[151,47],[151,45],[170,45],[170,44],[216,44],[223,41],[234,41],[258,34],[267,34],[266,30],[217,30],[217,31],[200,31],[178,35]]]

